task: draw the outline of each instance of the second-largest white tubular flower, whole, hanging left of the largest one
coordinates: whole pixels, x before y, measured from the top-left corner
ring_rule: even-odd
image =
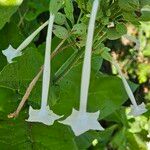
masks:
[[[52,41],[52,28],[55,16],[50,15],[47,38],[46,38],[46,50],[45,50],[45,61],[44,61],[44,71],[43,71],[43,82],[42,82],[42,101],[41,109],[34,110],[31,106],[29,108],[29,122],[41,122],[45,125],[53,125],[54,121],[61,118],[53,113],[47,106],[49,84],[50,84],[50,54],[51,54],[51,41]]]

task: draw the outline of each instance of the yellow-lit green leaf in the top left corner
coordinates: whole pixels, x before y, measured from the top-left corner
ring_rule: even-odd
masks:
[[[20,1],[0,1],[0,29],[9,22],[11,16],[17,11]]]

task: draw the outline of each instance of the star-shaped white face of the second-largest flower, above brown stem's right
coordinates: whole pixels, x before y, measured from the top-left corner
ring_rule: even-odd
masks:
[[[54,112],[50,110],[49,106],[47,106],[46,109],[40,109],[40,110],[35,110],[30,106],[29,118],[26,121],[41,122],[45,125],[53,125],[54,121],[61,117],[62,116],[58,116],[54,114]]]

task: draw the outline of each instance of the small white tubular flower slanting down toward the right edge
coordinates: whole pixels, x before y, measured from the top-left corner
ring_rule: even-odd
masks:
[[[147,109],[145,108],[145,104],[141,103],[140,105],[138,105],[136,103],[135,97],[131,91],[131,88],[129,87],[128,82],[126,81],[119,65],[117,64],[117,62],[115,60],[112,61],[113,65],[116,67],[116,69],[118,70],[119,75],[121,76],[122,82],[124,84],[125,90],[131,100],[131,112],[129,113],[129,115],[133,115],[134,117],[139,116],[143,113],[145,113],[147,111]]]

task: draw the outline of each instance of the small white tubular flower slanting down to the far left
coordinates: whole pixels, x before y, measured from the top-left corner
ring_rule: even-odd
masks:
[[[22,55],[22,50],[26,48],[32,40],[36,37],[36,35],[48,25],[48,21],[46,21],[44,24],[42,24],[37,30],[35,30],[29,37],[27,37],[20,46],[15,49],[11,45],[5,50],[2,51],[3,55],[6,56],[8,63],[12,63],[13,59]]]

